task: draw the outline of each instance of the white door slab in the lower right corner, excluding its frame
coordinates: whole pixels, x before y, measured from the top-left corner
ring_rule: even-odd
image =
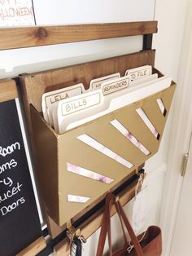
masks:
[[[192,143],[183,180],[170,256],[192,256]]]

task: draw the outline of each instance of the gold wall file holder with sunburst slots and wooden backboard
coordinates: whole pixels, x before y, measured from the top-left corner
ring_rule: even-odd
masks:
[[[55,130],[44,121],[40,113],[42,93],[78,82],[83,82],[87,88],[89,81],[94,77],[116,72],[120,72],[122,76],[128,68],[143,64],[153,65],[154,55],[155,51],[141,51],[132,55],[117,56],[42,73],[25,74],[20,77],[24,86],[24,99],[30,99],[25,100],[25,106],[29,103],[31,108],[31,114],[27,108],[28,117],[31,118],[28,121],[32,121],[41,195],[46,206],[46,213],[59,226],[67,223],[81,211],[85,212],[94,201],[98,201],[98,198],[103,198],[107,192],[117,188],[120,183],[135,174],[137,168],[158,151],[175,84],[172,82],[172,86],[166,90],[117,109],[94,121],[89,121],[73,130],[68,130],[63,135],[57,135]],[[154,69],[154,72],[157,71]],[[161,113],[156,99],[162,99],[166,108],[166,115]],[[151,120],[159,133],[158,139],[139,117],[136,112],[137,108],[142,108]],[[114,119],[120,121],[150,151],[148,156],[111,126],[110,121]],[[80,135],[89,135],[112,152],[116,152],[117,155],[131,162],[133,167],[125,167],[118,161],[82,143],[77,139]],[[68,171],[68,164],[94,171],[110,177],[114,181],[103,183],[74,174]],[[85,203],[69,202],[67,200],[68,194],[86,196],[89,197],[89,201]]]

